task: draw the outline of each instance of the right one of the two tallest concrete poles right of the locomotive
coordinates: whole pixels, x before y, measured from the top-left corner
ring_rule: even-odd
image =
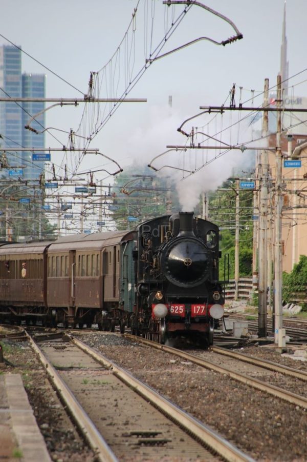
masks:
[[[281,75],[277,76],[277,108],[281,108]],[[275,186],[275,343],[279,343],[282,336],[282,242],[281,242],[281,210],[282,210],[282,191],[281,177],[281,112],[277,112],[277,132],[276,132],[276,186]]]

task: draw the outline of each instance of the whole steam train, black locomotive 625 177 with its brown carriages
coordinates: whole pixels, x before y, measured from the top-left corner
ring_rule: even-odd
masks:
[[[179,212],[131,231],[0,246],[0,321],[213,343],[224,313],[218,227]],[[225,278],[224,278],[225,279]]]

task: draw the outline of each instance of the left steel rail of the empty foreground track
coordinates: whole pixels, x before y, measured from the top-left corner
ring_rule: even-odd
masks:
[[[53,386],[59,393],[59,396],[64,401],[65,405],[68,407],[72,417],[79,427],[79,430],[95,452],[95,460],[97,459],[100,462],[116,462],[118,459],[115,454],[107,446],[105,440],[93,424],[92,420],[87,416],[82,406],[78,403],[74,395],[69,390],[68,386],[60,378],[55,368],[45,357],[31,336],[29,336],[29,342],[33,350],[38,354],[39,359],[46,372],[48,373]]]

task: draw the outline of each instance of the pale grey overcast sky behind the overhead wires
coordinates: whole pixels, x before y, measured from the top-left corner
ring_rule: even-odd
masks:
[[[120,59],[117,63],[113,62],[112,71],[108,67],[104,73],[103,67],[122,41],[137,3],[137,0],[1,0],[0,33],[70,84],[64,83],[23,54],[24,72],[46,73],[46,96],[82,97],[82,94],[87,93],[91,71],[100,71],[100,97],[107,96],[105,85],[108,84],[104,84],[103,78],[110,72],[114,72],[112,85],[117,88],[117,94],[121,95],[125,90],[124,79],[121,81],[121,78],[128,68],[120,64]],[[233,83],[236,84],[237,105],[239,87],[243,87],[242,102],[254,94],[254,106],[262,104],[262,95],[256,96],[264,88],[264,79],[268,77],[270,87],[273,87],[280,70],[283,0],[204,0],[203,3],[228,17],[244,38],[225,47],[203,40],[153,62],[128,95],[147,98],[147,103],[120,105],[111,119],[99,129],[90,148],[98,148],[101,153],[115,159],[122,168],[133,163],[134,159],[148,164],[153,157],[166,150],[166,145],[186,143],[186,138],[177,132],[183,120],[200,112],[200,106],[225,103]],[[307,2],[288,0],[286,8],[289,77],[299,73],[290,79],[289,93],[307,96],[304,82],[307,72],[302,72],[307,68]],[[163,39],[167,26],[182,10],[182,5],[168,8],[162,0],[140,1],[134,24],[135,42],[131,45],[127,38],[128,51],[119,53],[121,58],[124,58],[125,53],[129,56],[131,76],[139,72],[145,63],[145,56],[148,57],[150,46],[153,49]],[[233,35],[235,31],[230,24],[194,5],[167,41],[162,53],[201,36],[221,42]],[[8,42],[0,37],[0,44]],[[125,42],[121,50],[124,47]],[[169,95],[172,96],[171,108],[168,105]],[[227,101],[229,104],[229,99]],[[108,108],[101,106],[99,114]],[[47,147],[67,145],[67,132],[71,128],[77,131],[83,109],[84,105],[81,104],[78,108],[62,107],[47,111],[46,126],[56,129],[51,130],[51,133],[58,139],[56,141],[47,134]],[[96,109],[95,113],[87,114],[89,117],[86,120],[83,118],[82,134],[85,137],[93,132],[90,120],[93,114],[95,117],[100,116]],[[97,120],[100,121],[99,118]],[[185,129],[190,131],[191,126],[202,127],[206,122],[208,118],[198,117],[185,125]],[[221,119],[215,120],[215,126],[212,123],[212,126],[206,127],[207,132],[213,136],[221,130],[223,123],[226,124]],[[233,136],[236,143],[251,139],[248,126],[240,132],[237,128],[235,130],[231,135],[227,134],[225,142],[229,142],[229,136]],[[81,140],[79,143],[82,145]],[[194,162],[194,158],[189,158],[188,154],[186,158],[180,156],[181,167]],[[178,153],[170,153],[165,164],[178,166],[178,158]],[[52,162],[56,165],[60,165],[61,160],[60,154],[52,154]],[[78,166],[78,171],[99,169],[101,161],[103,168],[108,171],[114,172],[117,169],[101,156],[88,154]],[[65,162],[69,164],[71,159]],[[209,184],[212,176],[218,176],[226,165],[232,168],[237,162],[240,162],[237,152],[217,159],[210,164],[210,169],[202,169],[202,176],[198,176],[198,180]],[[75,165],[76,157],[70,165],[72,170]],[[170,169],[164,171],[171,175],[175,173]],[[105,172],[97,172],[95,175],[97,180],[106,176]],[[106,179],[107,182],[109,180]],[[195,183],[195,180],[192,179],[192,182]],[[199,192],[196,191],[196,194]]]

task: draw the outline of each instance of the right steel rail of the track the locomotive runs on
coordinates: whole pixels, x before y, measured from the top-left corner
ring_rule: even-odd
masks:
[[[226,348],[223,347],[212,347],[211,350],[214,353],[223,354],[231,358],[239,359],[240,361],[245,361],[245,363],[254,364],[255,366],[269,369],[270,371],[281,372],[284,375],[290,375],[292,377],[299,378],[300,380],[307,380],[307,372],[299,371],[288,366],[281,366],[277,363],[273,363],[273,361],[268,361],[267,359],[258,359],[254,356],[249,356],[244,353],[237,353],[235,351],[226,350]]]

